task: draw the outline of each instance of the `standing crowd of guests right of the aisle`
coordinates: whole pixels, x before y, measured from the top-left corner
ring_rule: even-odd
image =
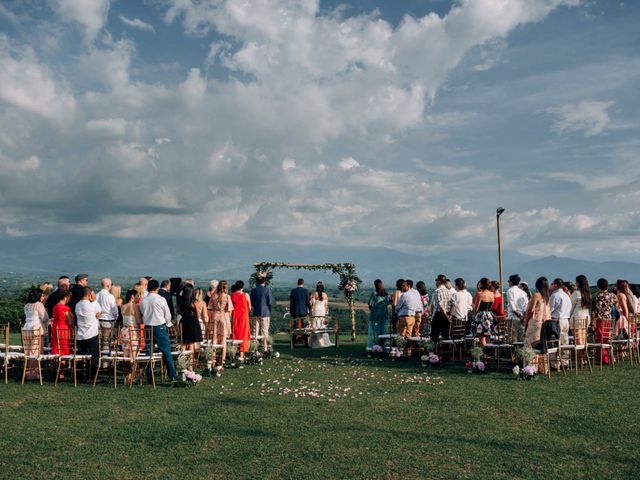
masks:
[[[618,280],[613,288],[609,287],[609,282],[601,278],[597,291],[592,293],[584,275],[578,275],[575,283],[561,278],[549,283],[546,277],[540,277],[532,292],[514,274],[509,277],[503,300],[497,281],[480,279],[475,294],[471,295],[464,279],[456,278],[452,283],[445,275],[438,275],[435,291],[429,298],[424,282],[418,282],[414,288],[412,280],[399,279],[396,290],[389,294],[383,282],[376,280],[368,301],[367,349],[383,345],[379,337],[390,333],[404,339],[429,337],[433,343],[448,340],[454,320],[466,322],[467,335],[477,338],[482,347],[498,333],[498,317],[510,321],[508,334],[514,342],[534,349],[543,348],[543,327],[547,322],[554,326],[560,344],[569,342],[569,331],[575,321],[586,322],[595,342],[602,343],[609,336],[627,339],[632,333],[629,316],[640,312],[640,302],[626,280]],[[585,344],[587,339],[583,337],[586,336],[578,335],[576,343]],[[603,353],[604,363],[608,363],[608,352]],[[407,343],[405,356],[410,354],[411,345]]]

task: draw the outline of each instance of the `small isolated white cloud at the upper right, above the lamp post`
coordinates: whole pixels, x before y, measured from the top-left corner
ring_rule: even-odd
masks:
[[[587,137],[600,135],[611,126],[607,110],[613,105],[613,101],[583,100],[549,108],[547,111],[556,117],[551,129],[558,134],[584,132]]]

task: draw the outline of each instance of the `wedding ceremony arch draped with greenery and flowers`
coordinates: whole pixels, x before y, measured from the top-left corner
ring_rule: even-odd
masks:
[[[276,268],[290,268],[295,270],[323,270],[329,271],[340,277],[338,288],[344,293],[349,305],[349,313],[351,316],[351,340],[356,339],[356,310],[355,310],[355,294],[358,287],[362,283],[360,277],[356,273],[356,266],[353,263],[285,263],[285,262],[256,262],[253,264],[256,271],[251,275],[251,284],[255,285],[259,276],[264,276],[267,285],[273,280],[273,270]]]

